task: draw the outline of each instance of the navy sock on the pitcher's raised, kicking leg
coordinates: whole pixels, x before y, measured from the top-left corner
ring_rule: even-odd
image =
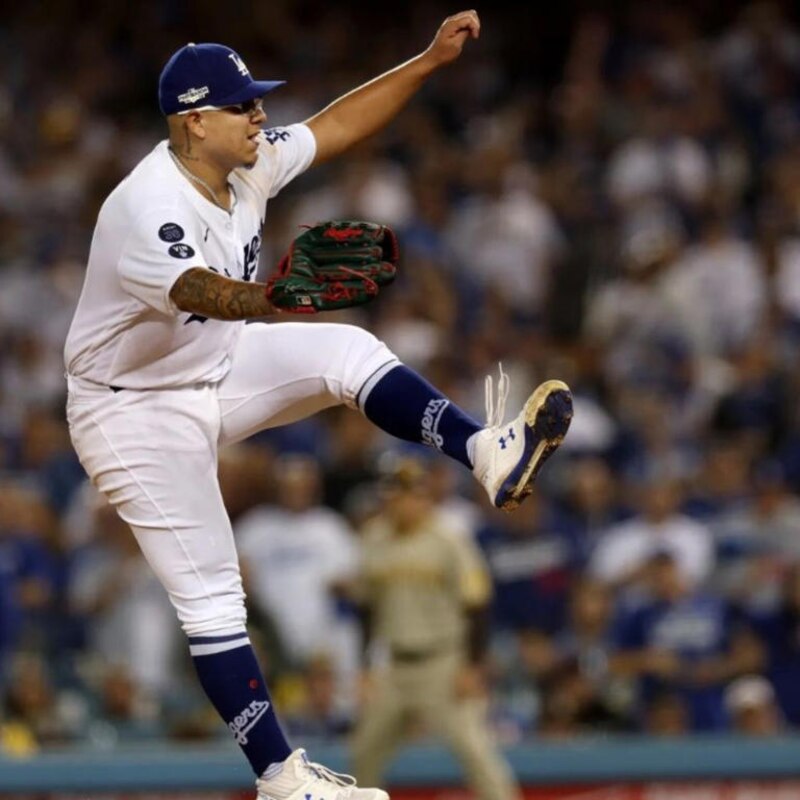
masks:
[[[392,436],[427,444],[472,469],[467,440],[483,428],[421,375],[400,364],[360,399],[367,419]],[[362,392],[364,389],[362,389]]]

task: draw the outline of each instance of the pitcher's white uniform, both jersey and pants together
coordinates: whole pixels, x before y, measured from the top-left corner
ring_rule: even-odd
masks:
[[[203,322],[169,301],[191,267],[252,277],[266,200],[314,147],[306,126],[266,131],[255,167],[231,177],[229,215],[162,142],[100,211],[66,345],[70,435],[189,635],[240,632],[246,618],[218,447],[328,406],[355,407],[398,363],[360,328]]]

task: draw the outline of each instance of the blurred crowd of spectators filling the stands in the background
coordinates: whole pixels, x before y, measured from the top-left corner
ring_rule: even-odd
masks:
[[[573,388],[567,442],[516,514],[414,450],[432,513],[491,577],[503,741],[776,735],[800,726],[800,28],[767,0],[613,8],[550,28],[479,9],[480,40],[395,124],[270,204],[262,277],[302,223],[378,220],[400,277],[329,319],[478,418],[499,360],[510,407],[545,378]],[[455,10],[53,2],[0,29],[0,747],[226,733],[63,412],[95,215],[164,135],[164,60],[235,47],[288,80],[266,104],[279,125]],[[397,448],[341,409],[222,454],[253,639],[304,741],[350,731],[368,697],[348,587]]]

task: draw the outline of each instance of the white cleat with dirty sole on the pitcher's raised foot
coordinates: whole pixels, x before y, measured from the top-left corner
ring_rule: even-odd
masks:
[[[556,451],[572,420],[572,394],[563,381],[545,381],[522,411],[503,423],[508,376],[500,368],[497,408],[486,378],[486,427],[475,440],[472,472],[497,508],[513,511],[530,493],[542,464]]]

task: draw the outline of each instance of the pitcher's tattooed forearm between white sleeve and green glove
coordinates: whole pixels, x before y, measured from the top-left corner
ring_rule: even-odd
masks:
[[[175,281],[169,293],[181,310],[211,319],[252,319],[274,314],[263,283],[245,283],[194,267]]]

